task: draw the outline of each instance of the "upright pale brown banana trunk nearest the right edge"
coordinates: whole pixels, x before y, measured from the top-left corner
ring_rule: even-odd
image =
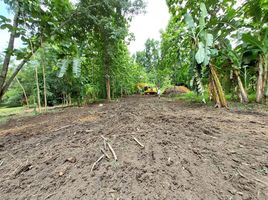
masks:
[[[263,64],[264,64],[264,59],[263,56],[260,54],[259,55],[259,62],[258,62],[258,78],[257,78],[257,85],[256,85],[256,102],[261,103],[263,100],[263,93],[264,93],[264,88],[263,88]]]

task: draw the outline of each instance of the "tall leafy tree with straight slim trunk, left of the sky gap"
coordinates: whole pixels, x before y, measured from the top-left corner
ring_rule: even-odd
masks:
[[[81,0],[78,4],[76,21],[80,23],[77,30],[78,40],[85,39],[92,33],[99,42],[100,54],[106,82],[106,98],[111,99],[111,65],[114,48],[128,35],[128,22],[134,14],[144,7],[142,0],[102,0],[98,3]],[[97,16],[97,17],[96,17]]]

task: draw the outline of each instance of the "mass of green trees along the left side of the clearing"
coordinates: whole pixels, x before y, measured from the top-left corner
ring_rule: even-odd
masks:
[[[10,24],[10,19],[1,16],[1,28],[12,33],[5,59],[14,56],[21,64],[14,70],[3,62],[0,99],[24,65],[21,76],[32,74],[36,66],[35,77],[40,77],[40,91],[32,86],[26,87],[26,93],[40,94],[45,106],[53,98],[56,102],[73,98],[81,103],[87,97],[110,100],[111,96],[134,92],[135,81],[144,71],[134,64],[125,41],[131,18],[144,11],[142,0],[81,0],[76,6],[68,0],[5,2],[15,18]],[[24,42],[22,48],[14,49],[14,35]],[[25,81],[20,82],[23,85]]]

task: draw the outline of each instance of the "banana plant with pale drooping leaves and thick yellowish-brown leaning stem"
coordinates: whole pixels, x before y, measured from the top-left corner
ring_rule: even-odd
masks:
[[[204,3],[200,4],[200,13],[198,23],[194,22],[191,14],[186,14],[184,17],[185,23],[190,30],[192,38],[192,80],[191,85],[197,86],[197,91],[201,93],[204,99],[204,87],[202,79],[204,78],[204,72],[207,69],[210,70],[210,92],[213,99],[216,101],[218,107],[226,107],[227,103],[225,100],[224,92],[219,81],[216,68],[211,64],[211,57],[217,56],[218,51],[213,48],[214,38],[211,33],[207,31],[206,19],[208,18],[208,12]]]

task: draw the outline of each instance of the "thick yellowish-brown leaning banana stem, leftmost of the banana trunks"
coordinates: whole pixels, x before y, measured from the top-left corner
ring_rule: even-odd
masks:
[[[227,107],[227,102],[225,99],[225,95],[221,86],[221,82],[218,78],[216,69],[213,65],[210,65],[210,72],[211,72],[211,79],[213,81],[213,95],[215,96],[216,103],[218,104],[218,107]]]

